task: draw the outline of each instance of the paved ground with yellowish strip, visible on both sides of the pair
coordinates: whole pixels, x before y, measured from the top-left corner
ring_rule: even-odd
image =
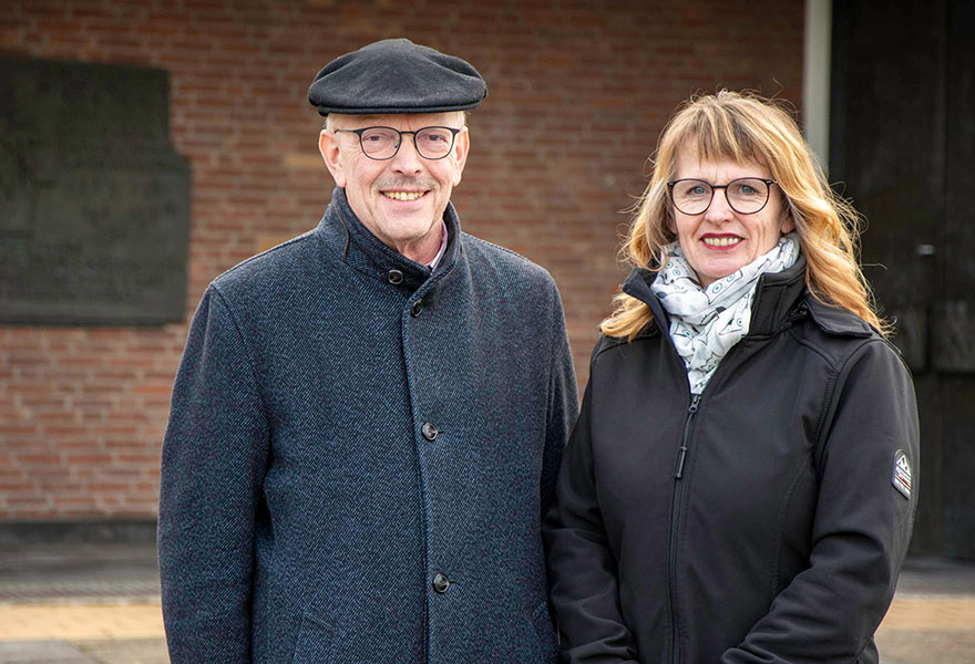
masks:
[[[883,664],[975,663],[975,563],[907,562]],[[4,546],[0,664],[167,664],[152,544]]]

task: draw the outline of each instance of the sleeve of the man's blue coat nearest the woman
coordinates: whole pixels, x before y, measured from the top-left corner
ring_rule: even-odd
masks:
[[[553,291],[555,288],[553,286]],[[548,407],[545,423],[545,449],[542,455],[541,509],[544,518],[555,494],[555,480],[572,425],[578,415],[578,390],[575,366],[565,330],[565,314],[558,292],[554,292],[555,313],[552,332],[552,359],[548,376]]]

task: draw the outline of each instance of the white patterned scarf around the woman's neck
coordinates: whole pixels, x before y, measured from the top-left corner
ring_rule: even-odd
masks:
[[[704,392],[725,354],[748,334],[758,279],[781,272],[799,258],[794,232],[771,251],[701,290],[678,242],[667,246],[667,264],[651,289],[670,314],[670,338],[687,366],[691,394]]]

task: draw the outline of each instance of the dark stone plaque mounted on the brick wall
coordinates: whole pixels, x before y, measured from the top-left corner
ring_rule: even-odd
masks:
[[[0,323],[184,318],[189,166],[163,70],[0,58]]]

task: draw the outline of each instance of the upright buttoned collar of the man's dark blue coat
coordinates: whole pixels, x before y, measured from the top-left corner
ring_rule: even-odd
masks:
[[[443,212],[443,221],[447,225],[447,250],[433,272],[438,277],[453,268],[460,252],[460,219],[450,203]],[[410,260],[372,235],[349,207],[346,190],[340,187],[332,191],[331,204],[316,232],[333,258],[373,279],[415,290],[431,277],[430,268]]]

